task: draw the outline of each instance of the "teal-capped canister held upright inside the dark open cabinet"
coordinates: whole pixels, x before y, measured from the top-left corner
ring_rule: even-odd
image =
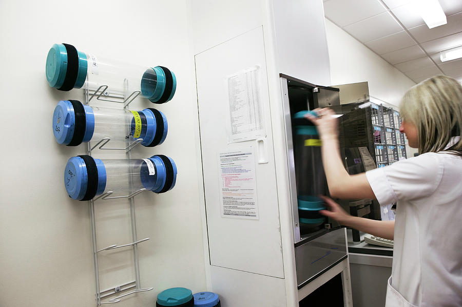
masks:
[[[325,175],[322,166],[321,140],[313,124],[304,118],[308,111],[297,112],[295,123],[295,179],[301,223],[318,224],[324,221],[319,210],[325,209],[318,195],[325,195]]]

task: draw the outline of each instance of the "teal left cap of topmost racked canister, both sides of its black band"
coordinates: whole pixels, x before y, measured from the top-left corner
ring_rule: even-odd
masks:
[[[81,88],[87,77],[87,56],[84,52],[77,51],[79,56],[79,70],[77,72],[77,80],[74,88]],[[67,50],[63,44],[54,44],[47,55],[47,63],[45,72],[48,84],[51,87],[60,88],[67,72]]]

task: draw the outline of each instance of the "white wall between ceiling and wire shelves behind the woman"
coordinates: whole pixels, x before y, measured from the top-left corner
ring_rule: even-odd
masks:
[[[367,81],[371,101],[399,110],[401,97],[415,82],[331,21],[326,19],[325,26],[331,85]],[[406,150],[408,158],[417,152],[409,146]]]

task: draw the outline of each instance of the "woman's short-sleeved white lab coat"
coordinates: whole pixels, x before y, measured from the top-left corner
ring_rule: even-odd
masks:
[[[386,307],[462,306],[462,157],[427,153],[366,172],[397,202]]]

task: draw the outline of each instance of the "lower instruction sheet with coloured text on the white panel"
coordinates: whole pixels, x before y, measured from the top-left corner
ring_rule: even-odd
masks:
[[[222,217],[258,219],[254,148],[218,152]]]

